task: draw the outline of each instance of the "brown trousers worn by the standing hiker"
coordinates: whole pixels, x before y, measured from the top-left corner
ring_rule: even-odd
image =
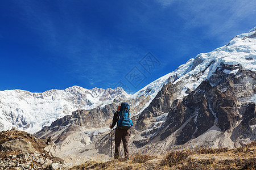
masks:
[[[123,141],[123,150],[125,150],[125,158],[129,158],[128,142],[130,138],[130,130],[115,129],[115,159],[119,158],[121,139]]]

